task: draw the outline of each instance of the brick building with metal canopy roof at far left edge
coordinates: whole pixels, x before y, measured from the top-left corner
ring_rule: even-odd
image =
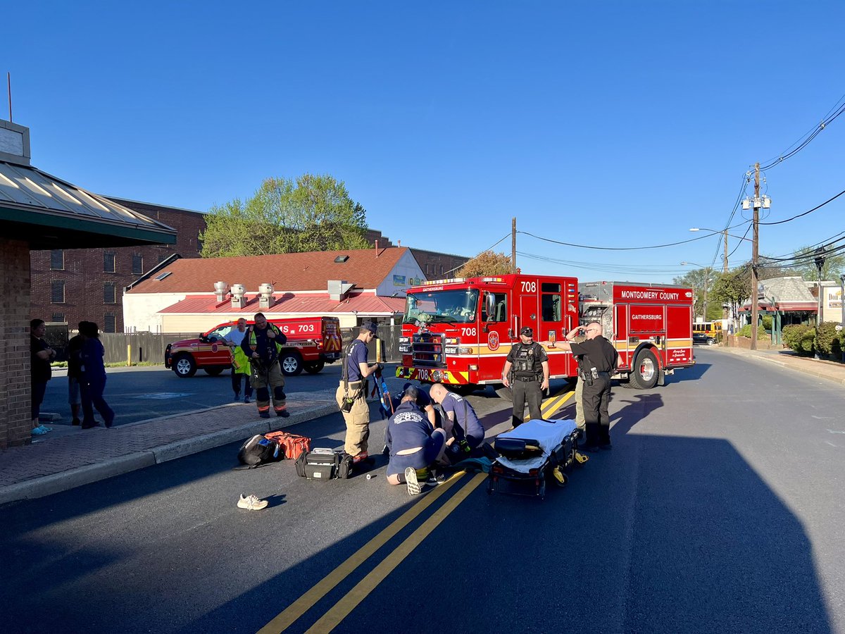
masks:
[[[0,121],[0,449],[30,442],[30,251],[176,243],[161,222],[30,167],[30,130]]]

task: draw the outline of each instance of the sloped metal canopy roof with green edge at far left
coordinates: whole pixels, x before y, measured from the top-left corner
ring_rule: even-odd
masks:
[[[0,121],[3,238],[30,249],[92,249],[175,244],[176,230],[30,166],[29,128]],[[22,139],[15,142],[17,138]]]

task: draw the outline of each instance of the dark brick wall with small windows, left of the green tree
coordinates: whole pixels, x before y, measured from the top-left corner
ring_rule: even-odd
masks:
[[[30,314],[33,318],[64,321],[72,328],[82,320],[95,321],[104,331],[113,320],[114,331],[123,332],[123,287],[141,276],[133,272],[134,256],[140,256],[144,272],[175,253],[183,258],[199,258],[199,233],[205,229],[202,214],[131,200],[112,200],[173,227],[177,230],[177,243],[119,249],[64,249],[61,269],[51,268],[51,251],[32,251]],[[104,271],[106,252],[114,254],[114,272]],[[63,282],[63,302],[52,301],[54,281]],[[106,303],[106,283],[114,285],[114,303]]]

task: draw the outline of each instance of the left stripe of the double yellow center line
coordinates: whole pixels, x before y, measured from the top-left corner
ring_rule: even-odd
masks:
[[[338,583],[346,579],[352,571],[363,564],[370,555],[373,555],[376,550],[384,546],[384,544],[387,544],[390,538],[392,538],[396,533],[399,533],[402,528],[412,522],[413,519],[425,511],[428,506],[431,506],[435,500],[437,500],[446,492],[447,489],[450,488],[450,486],[460,480],[464,473],[466,472],[459,471],[455,473],[446,482],[440,484],[437,489],[423,497],[422,500],[419,500],[417,504],[405,511],[405,513],[399,516],[392,524],[390,524],[389,527],[386,527],[381,533],[370,539],[367,544],[364,544],[357,550],[356,553],[350,556],[349,559],[323,577],[323,579],[317,582],[313,588],[308,590],[307,593],[304,593],[303,596],[297,598],[296,601],[288,605],[281,614],[276,615],[270,623],[259,630],[259,634],[270,634],[270,632],[274,632],[275,634],[275,632],[286,630],[287,627],[291,626],[295,620],[311,609],[321,598],[330,593],[332,588],[335,588]]]

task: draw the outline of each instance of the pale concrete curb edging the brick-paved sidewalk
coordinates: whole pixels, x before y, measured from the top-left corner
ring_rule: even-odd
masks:
[[[205,412],[209,409],[216,408],[209,407],[197,411]],[[74,467],[62,473],[52,473],[51,475],[41,476],[41,478],[33,478],[25,482],[10,484],[0,488],[0,505],[19,500],[33,500],[46,495],[61,493],[62,491],[75,489],[83,484],[99,482],[106,478],[112,478],[112,476],[122,475],[130,471],[143,469],[144,467],[152,467],[155,464],[161,464],[161,462],[176,460],[177,458],[214,449],[221,445],[228,445],[231,442],[243,440],[251,435],[266,434],[276,429],[284,429],[292,425],[307,423],[309,420],[321,418],[337,411],[336,403],[326,403],[325,405],[313,407],[305,412],[292,413],[289,418],[276,418],[275,420],[262,418],[259,421],[238,425],[232,429],[221,429],[210,434],[177,440],[167,445],[150,447],[150,449],[136,451],[126,456],[110,458],[106,462],[85,465],[85,467]],[[174,414],[162,418],[176,418],[177,416],[183,416],[189,413],[194,412]],[[281,421],[283,421],[281,425],[277,424]]]

